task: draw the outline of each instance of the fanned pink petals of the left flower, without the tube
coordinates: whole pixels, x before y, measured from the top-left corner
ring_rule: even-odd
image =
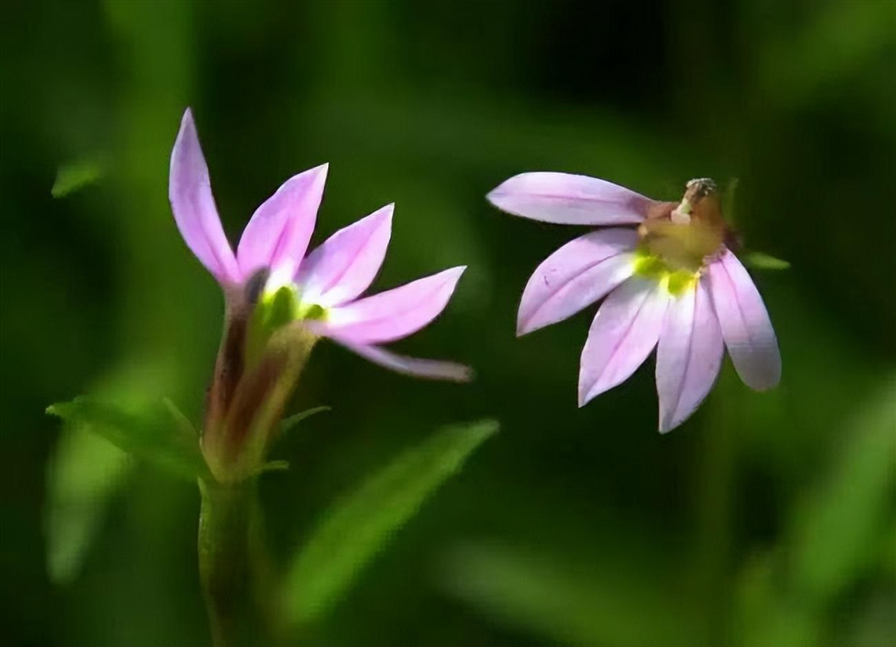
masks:
[[[290,319],[361,357],[409,375],[464,381],[449,362],[407,358],[380,344],[417,332],[438,316],[465,267],[361,297],[383,264],[392,204],[340,229],[306,255],[323,197],[327,165],[290,177],[246,225],[233,253],[211,195],[193,115],[187,109],[171,153],[168,194],[186,245],[218,280],[229,302],[271,302],[287,289]]]

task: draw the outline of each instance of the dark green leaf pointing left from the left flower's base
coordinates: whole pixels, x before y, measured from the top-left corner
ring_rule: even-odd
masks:
[[[81,424],[119,449],[187,479],[207,478],[199,438],[182,414],[172,415],[170,402],[124,410],[88,397],[47,407],[47,413]]]

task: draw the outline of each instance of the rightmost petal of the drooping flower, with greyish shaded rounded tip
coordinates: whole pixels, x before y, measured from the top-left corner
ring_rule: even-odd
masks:
[[[737,256],[725,250],[711,263],[709,285],[737,375],[755,391],[776,386],[781,376],[778,339],[759,290]]]

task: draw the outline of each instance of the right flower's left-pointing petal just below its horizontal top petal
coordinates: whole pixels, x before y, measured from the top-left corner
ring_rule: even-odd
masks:
[[[603,229],[575,238],[547,257],[522,292],[517,335],[572,316],[634,272],[633,229]]]

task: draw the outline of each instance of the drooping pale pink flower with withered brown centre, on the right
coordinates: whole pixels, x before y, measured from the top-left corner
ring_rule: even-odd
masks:
[[[663,203],[594,177],[523,173],[488,194],[517,216],[604,226],[547,257],[522,293],[517,335],[607,297],[582,349],[579,406],[624,382],[657,347],[659,431],[700,406],[728,347],[756,391],[780,380],[778,341],[762,298],[731,248],[714,183],[687,183]]]

